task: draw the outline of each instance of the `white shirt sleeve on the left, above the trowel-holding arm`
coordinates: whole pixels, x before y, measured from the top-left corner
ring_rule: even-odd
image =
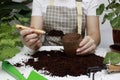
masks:
[[[40,0],[33,0],[32,16],[42,16],[42,6]]]

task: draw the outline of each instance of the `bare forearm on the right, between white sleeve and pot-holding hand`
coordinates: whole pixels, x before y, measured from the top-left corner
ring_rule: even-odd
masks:
[[[87,35],[90,36],[95,41],[96,46],[99,45],[101,40],[99,29],[99,17],[97,16],[87,17]]]

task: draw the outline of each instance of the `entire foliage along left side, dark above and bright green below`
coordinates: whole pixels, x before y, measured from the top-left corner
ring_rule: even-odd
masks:
[[[31,9],[27,4],[32,0],[0,1],[0,60],[5,60],[15,56],[23,46],[15,24],[29,24]]]

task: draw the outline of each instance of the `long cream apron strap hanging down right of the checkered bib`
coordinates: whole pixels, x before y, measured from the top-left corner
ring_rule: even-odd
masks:
[[[76,0],[78,33],[82,34],[82,0]]]

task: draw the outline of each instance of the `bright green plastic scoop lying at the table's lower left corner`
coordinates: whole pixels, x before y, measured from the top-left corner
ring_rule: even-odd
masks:
[[[30,75],[26,79],[12,64],[8,61],[2,62],[2,69],[5,70],[7,73],[12,75],[16,80],[48,80],[45,77],[41,76],[40,74],[36,73],[35,71],[31,71]]]

